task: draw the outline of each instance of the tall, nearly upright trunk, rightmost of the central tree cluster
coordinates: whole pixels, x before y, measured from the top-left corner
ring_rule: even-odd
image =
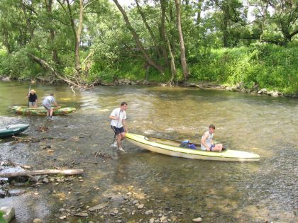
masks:
[[[181,27],[180,0],[175,0],[175,4],[176,4],[177,30],[178,30],[178,37],[180,42],[180,59],[181,59],[181,65],[182,65],[182,72],[184,76],[184,81],[187,81],[189,73],[188,73],[187,61],[185,57],[184,40],[183,40],[182,27]]]

